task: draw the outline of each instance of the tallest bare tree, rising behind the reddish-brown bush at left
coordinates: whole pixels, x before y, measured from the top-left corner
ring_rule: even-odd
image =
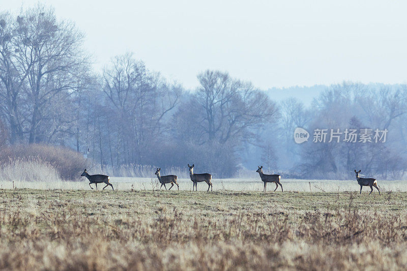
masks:
[[[12,41],[16,67],[27,79],[28,142],[33,143],[53,98],[81,87],[78,78],[87,70],[88,59],[82,51],[83,35],[75,25],[57,21],[54,11],[41,5],[17,16]]]

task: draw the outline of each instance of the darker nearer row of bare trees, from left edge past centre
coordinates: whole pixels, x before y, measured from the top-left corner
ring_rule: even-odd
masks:
[[[234,175],[243,142],[276,120],[251,83],[204,71],[186,92],[130,54],[91,72],[83,35],[52,9],[0,15],[0,109],[8,141],[70,146],[101,166],[199,164]]]

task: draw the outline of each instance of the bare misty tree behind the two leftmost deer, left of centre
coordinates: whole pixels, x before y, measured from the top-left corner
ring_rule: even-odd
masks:
[[[107,117],[115,119],[112,125],[117,125],[121,134],[115,155],[121,156],[125,164],[146,163],[152,145],[166,131],[163,121],[179,103],[182,87],[168,84],[130,53],[112,59],[104,70],[103,81],[110,108]]]

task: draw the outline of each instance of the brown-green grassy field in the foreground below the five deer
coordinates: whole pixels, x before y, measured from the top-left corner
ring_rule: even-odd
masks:
[[[0,200],[0,269],[407,268],[405,192],[1,189]]]

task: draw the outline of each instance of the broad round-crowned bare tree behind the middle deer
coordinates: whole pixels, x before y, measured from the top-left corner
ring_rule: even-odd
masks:
[[[239,148],[258,144],[259,131],[276,121],[278,110],[265,93],[227,73],[208,70],[197,77],[200,86],[179,107],[172,135],[188,149],[185,159],[230,176],[241,162]]]

